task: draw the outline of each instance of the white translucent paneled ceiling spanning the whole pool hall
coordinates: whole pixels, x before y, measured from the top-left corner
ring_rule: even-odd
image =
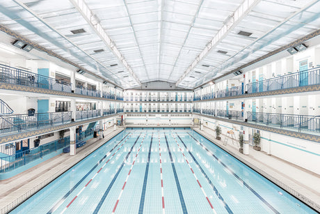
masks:
[[[192,89],[316,31],[319,11],[315,0],[1,0],[0,24],[125,89]]]

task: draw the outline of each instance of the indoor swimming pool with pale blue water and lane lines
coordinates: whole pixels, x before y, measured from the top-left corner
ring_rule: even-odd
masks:
[[[11,213],[316,213],[190,129],[115,136]]]

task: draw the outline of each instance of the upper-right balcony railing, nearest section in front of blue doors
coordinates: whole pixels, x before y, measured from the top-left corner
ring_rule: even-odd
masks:
[[[290,89],[299,86],[311,86],[314,84],[320,84],[320,68],[312,68],[310,70],[294,72],[289,75],[252,82],[246,84],[246,91],[247,93],[257,93],[262,91]]]

